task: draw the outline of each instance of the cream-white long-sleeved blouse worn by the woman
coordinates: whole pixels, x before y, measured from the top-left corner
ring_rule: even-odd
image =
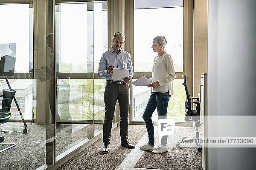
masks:
[[[170,54],[165,53],[160,57],[154,59],[152,70],[152,77],[148,79],[149,82],[159,82],[156,88],[151,88],[152,92],[165,93],[169,91],[169,95],[174,94],[172,80],[175,79],[175,71]]]

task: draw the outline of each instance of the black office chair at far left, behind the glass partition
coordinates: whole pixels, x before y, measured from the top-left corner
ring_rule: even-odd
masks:
[[[14,98],[15,93],[16,93],[16,90],[3,91],[3,96],[0,96],[0,97],[3,97],[2,108],[0,108],[0,125],[8,122],[9,118],[11,117],[10,108],[11,108],[12,99]],[[3,142],[3,141],[4,141],[4,137],[0,136],[0,142]],[[0,145],[9,146],[5,149],[0,150],[0,153],[16,146],[15,143],[0,143]]]

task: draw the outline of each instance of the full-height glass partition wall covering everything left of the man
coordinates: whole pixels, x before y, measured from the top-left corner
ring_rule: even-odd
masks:
[[[15,58],[7,80],[18,107],[12,100],[9,119],[0,117],[0,150],[16,145],[0,151],[0,169],[46,169],[102,135],[105,79],[96,72],[108,50],[107,1],[11,1],[0,5],[0,57],[8,47]],[[5,91],[0,77],[0,106]]]

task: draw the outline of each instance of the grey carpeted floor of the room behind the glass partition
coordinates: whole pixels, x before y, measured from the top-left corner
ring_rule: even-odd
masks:
[[[2,170],[35,170],[46,162],[46,125],[27,123],[28,133],[2,133],[5,143],[16,143],[9,150],[0,153]],[[56,127],[56,156],[87,139],[88,124],[60,124]],[[102,125],[94,125],[95,133],[102,130]],[[23,123],[7,122],[1,130],[22,131]],[[0,146],[0,149],[6,146]]]

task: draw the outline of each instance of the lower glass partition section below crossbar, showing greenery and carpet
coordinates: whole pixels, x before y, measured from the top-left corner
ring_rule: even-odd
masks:
[[[56,156],[93,138],[93,79],[58,79]]]

